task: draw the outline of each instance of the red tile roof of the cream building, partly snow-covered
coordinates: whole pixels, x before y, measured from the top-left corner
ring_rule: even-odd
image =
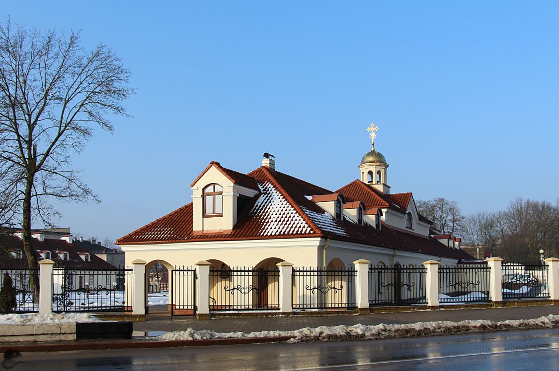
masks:
[[[215,163],[210,164],[210,166],[214,165]],[[238,223],[230,234],[194,234],[191,203],[125,235],[117,240],[117,244],[330,237],[435,256],[472,259],[466,252],[447,248],[432,237],[406,233],[384,223],[381,230],[377,230],[370,225],[357,225],[349,220],[337,220],[310,200],[310,196],[332,195],[332,191],[282,172],[262,166],[245,177],[257,182],[260,194],[253,197],[252,203],[239,217]],[[408,194],[398,194],[393,200],[358,180],[338,192],[340,191],[347,196],[349,202],[350,199],[356,202],[363,201],[367,211],[391,207],[405,212],[405,209],[401,209],[406,199],[409,202],[411,197],[411,194],[409,197],[400,196]],[[401,204],[398,205],[396,202]]]

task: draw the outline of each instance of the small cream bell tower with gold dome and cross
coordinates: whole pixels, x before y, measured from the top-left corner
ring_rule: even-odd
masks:
[[[382,153],[375,151],[377,130],[378,126],[375,126],[375,124],[371,124],[371,126],[367,128],[367,131],[370,132],[369,138],[371,138],[372,150],[365,153],[361,160],[361,164],[359,164],[359,171],[361,172],[361,177],[359,177],[359,179],[378,191],[389,194],[390,186],[387,184],[386,180],[386,172],[389,165]]]

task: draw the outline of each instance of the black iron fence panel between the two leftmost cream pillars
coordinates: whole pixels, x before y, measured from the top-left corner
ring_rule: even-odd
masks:
[[[54,312],[131,310],[132,269],[53,270]]]

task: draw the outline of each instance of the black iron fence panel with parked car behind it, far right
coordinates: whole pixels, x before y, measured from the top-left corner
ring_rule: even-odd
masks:
[[[549,297],[547,264],[505,263],[502,266],[503,299]]]

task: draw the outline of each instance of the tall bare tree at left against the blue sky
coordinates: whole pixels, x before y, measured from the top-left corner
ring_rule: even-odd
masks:
[[[57,214],[49,197],[99,201],[72,168],[71,155],[83,150],[94,126],[113,131],[108,114],[126,115],[120,102],[133,93],[129,75],[105,45],[80,46],[79,32],[0,23],[0,173],[17,195],[30,267],[37,264],[31,221],[49,224]],[[38,291],[37,277],[31,287]]]

